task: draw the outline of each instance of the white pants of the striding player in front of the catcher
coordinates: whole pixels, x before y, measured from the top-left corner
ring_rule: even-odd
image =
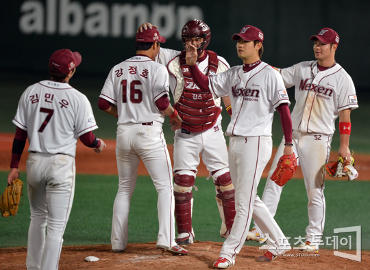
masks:
[[[271,152],[271,136],[230,137],[229,164],[232,183],[236,191],[236,216],[231,234],[223,243],[220,257],[234,262],[236,254],[240,252],[247,238],[252,215],[264,233],[269,234],[268,250],[275,255],[286,252],[286,248],[283,247],[286,247],[288,242],[282,230],[257,195],[258,183],[264,167],[271,158]]]

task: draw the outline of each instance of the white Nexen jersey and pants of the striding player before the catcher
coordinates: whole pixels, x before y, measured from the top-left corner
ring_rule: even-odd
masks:
[[[283,103],[290,104],[282,78],[261,62],[249,72],[243,72],[243,66],[234,66],[211,77],[209,87],[217,97],[228,95],[233,111],[226,135],[230,136],[229,164],[236,191],[236,217],[219,256],[234,262],[247,238],[252,214],[262,231],[269,234],[267,249],[280,255],[290,246],[258,197],[257,187],[271,157],[274,109]]]

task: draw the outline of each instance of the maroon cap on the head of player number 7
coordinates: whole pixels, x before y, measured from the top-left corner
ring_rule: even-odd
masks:
[[[68,73],[79,66],[81,61],[82,57],[77,51],[72,53],[69,49],[62,49],[51,55],[49,67],[57,70],[58,73]]]

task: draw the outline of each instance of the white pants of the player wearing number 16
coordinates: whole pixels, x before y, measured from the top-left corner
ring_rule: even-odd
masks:
[[[154,121],[153,126],[119,125],[116,159],[119,188],[113,206],[112,249],[124,250],[127,245],[130,202],[136,186],[140,159],[143,160],[158,192],[157,245],[166,247],[176,245],[172,166],[162,124]]]

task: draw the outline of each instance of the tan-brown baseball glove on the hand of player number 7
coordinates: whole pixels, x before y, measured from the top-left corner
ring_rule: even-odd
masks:
[[[12,185],[8,186],[0,198],[1,215],[9,217],[16,215],[18,212],[19,203],[23,189],[23,182],[19,179],[13,181]]]

